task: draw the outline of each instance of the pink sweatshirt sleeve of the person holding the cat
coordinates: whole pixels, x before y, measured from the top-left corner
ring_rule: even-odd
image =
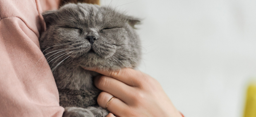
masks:
[[[39,47],[40,13],[47,9],[41,3],[0,0],[0,117],[61,117],[64,111]]]

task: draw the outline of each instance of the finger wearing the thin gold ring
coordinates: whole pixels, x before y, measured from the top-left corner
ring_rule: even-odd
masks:
[[[113,95],[109,93],[101,92],[97,102],[102,108],[106,109],[106,104],[112,97]],[[108,105],[108,110],[116,116],[125,115],[128,109],[129,106],[118,98],[112,99]]]

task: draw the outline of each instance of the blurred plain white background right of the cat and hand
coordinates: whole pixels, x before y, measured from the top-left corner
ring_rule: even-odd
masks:
[[[186,117],[242,117],[256,76],[256,0],[101,0],[128,15],[143,45],[139,70]]]

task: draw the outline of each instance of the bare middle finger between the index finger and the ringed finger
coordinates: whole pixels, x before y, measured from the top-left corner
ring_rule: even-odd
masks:
[[[96,77],[94,83],[98,89],[114,95],[125,103],[130,103],[133,101],[131,96],[134,92],[136,92],[136,89],[119,80],[108,76],[101,76]]]

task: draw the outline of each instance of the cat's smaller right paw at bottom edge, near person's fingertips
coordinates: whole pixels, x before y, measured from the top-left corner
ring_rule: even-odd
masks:
[[[88,110],[90,110],[95,117],[106,117],[109,112],[101,107],[94,107],[94,106],[90,106],[88,108],[86,108]]]

